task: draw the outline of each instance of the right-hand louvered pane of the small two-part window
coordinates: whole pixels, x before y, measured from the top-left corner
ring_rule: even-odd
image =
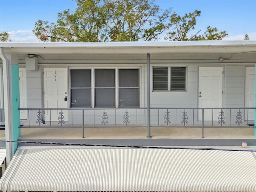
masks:
[[[186,90],[186,67],[171,67],[171,90]]]

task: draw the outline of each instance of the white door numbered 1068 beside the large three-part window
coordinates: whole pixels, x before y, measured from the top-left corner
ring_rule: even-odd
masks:
[[[67,68],[44,68],[44,108],[68,108]],[[65,99],[66,98],[66,99]],[[44,120],[68,120],[68,110],[45,110]],[[64,119],[63,119],[64,118]]]

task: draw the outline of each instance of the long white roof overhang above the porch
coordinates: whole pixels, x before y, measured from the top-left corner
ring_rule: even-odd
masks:
[[[180,54],[252,54],[256,41],[173,41],[173,42],[0,42],[4,52],[18,53],[24,58],[28,53],[38,55],[145,55],[156,58]],[[231,55],[232,56],[232,55]],[[113,58],[115,58],[113,56]],[[146,58],[146,56],[145,56]],[[170,57],[172,58],[172,57]],[[255,58],[255,57],[254,57]]]

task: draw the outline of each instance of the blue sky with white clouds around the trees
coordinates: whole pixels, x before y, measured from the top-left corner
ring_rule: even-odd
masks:
[[[155,0],[160,8],[172,8],[180,16],[200,10],[196,30],[207,26],[226,30],[224,40],[243,40],[247,33],[256,40],[256,0]],[[75,10],[74,0],[0,0],[0,31],[8,31],[13,42],[38,41],[32,33],[38,20],[56,22],[58,12]]]

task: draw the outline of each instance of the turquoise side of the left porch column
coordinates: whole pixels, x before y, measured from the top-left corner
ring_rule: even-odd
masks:
[[[19,66],[12,65],[12,128],[13,128],[13,140],[18,141],[20,137],[20,73]],[[18,144],[14,143],[13,152],[17,150]]]

